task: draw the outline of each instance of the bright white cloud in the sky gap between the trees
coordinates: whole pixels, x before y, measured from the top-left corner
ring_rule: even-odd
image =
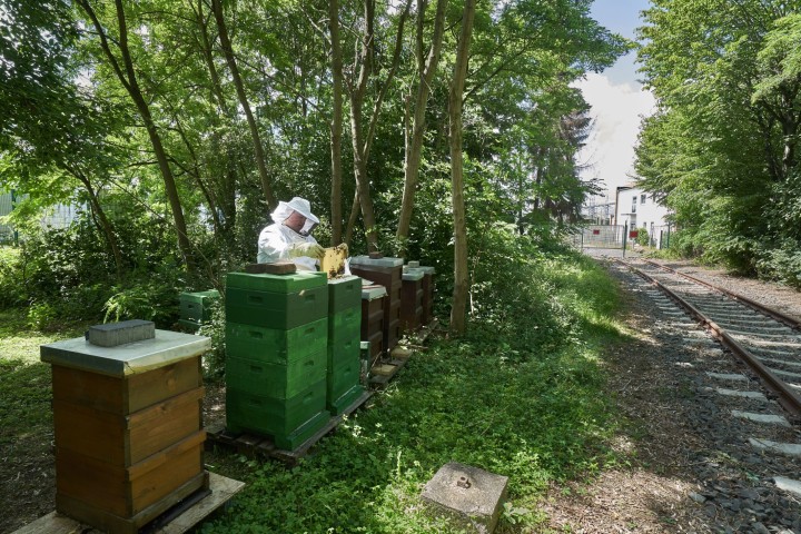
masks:
[[[582,90],[592,109],[595,131],[578,155],[580,164],[590,164],[584,177],[600,178],[614,199],[614,190],[631,181],[634,146],[641,117],[654,111],[654,97],[640,83],[614,83],[604,75],[589,73],[575,87]]]

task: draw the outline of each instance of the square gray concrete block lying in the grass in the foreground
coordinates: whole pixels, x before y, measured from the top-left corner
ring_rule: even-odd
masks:
[[[423,488],[422,498],[435,513],[444,513],[469,532],[495,530],[506,498],[508,477],[449,462]]]

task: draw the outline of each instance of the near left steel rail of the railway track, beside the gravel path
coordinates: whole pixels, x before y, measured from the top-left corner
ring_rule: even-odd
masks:
[[[741,346],[733,337],[731,337],[723,328],[721,328],[715,322],[702,314],[695,306],[684,300],[682,297],[676,295],[672,289],[660,283],[655,278],[649,276],[636,267],[614,258],[615,261],[625,265],[629,269],[640,275],[645,280],[659,287],[669,297],[675,300],[680,306],[685,308],[690,314],[698,319],[702,325],[712,332],[712,335],[732,353],[739,356],[756,375],[762,379],[768,389],[773,392],[779,400],[779,404],[784,407],[792,416],[801,417],[801,397],[793,392],[789,385],[778,378],[773,373],[768,369],[762,362],[760,362],[753,354],[751,354],[745,347]],[[657,264],[659,265],[659,264]]]

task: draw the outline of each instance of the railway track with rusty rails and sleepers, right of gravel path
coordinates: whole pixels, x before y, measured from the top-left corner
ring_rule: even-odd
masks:
[[[705,326],[801,421],[801,322],[654,261],[621,263]]]

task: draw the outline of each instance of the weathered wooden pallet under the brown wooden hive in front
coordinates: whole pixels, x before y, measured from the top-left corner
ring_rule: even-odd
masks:
[[[194,500],[190,495],[185,503],[178,503],[150,524],[141,527],[139,532],[141,534],[182,534],[225,505],[243,487],[245,487],[244,482],[209,473],[209,488],[198,491],[198,498]],[[58,512],[39,517],[13,534],[75,534],[77,532],[102,534],[101,531],[83,525]]]

